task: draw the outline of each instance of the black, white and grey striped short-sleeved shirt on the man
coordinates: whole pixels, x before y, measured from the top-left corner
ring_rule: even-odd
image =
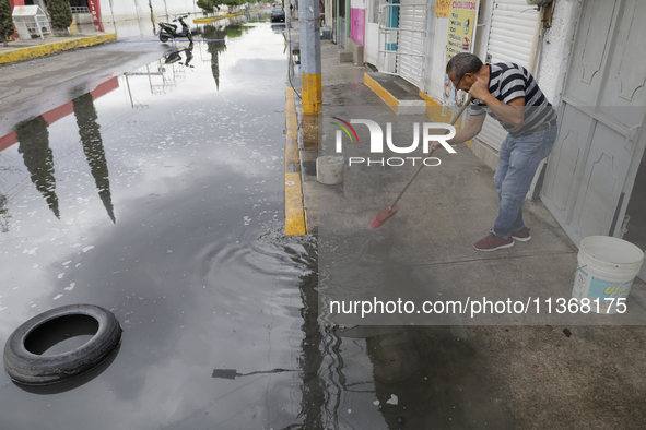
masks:
[[[510,62],[489,64],[489,92],[504,104],[524,97],[525,120],[520,127],[501,121],[481,100],[471,101],[471,115],[489,114],[513,136],[538,131],[545,122],[556,119],[556,111],[539,88],[536,80],[521,65]]]

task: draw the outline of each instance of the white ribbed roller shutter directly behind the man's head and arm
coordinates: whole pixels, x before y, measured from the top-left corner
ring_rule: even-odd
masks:
[[[531,72],[538,25],[540,14],[526,0],[495,0],[486,47],[488,62],[514,62]],[[500,151],[506,136],[507,132],[498,121],[486,116],[475,139]]]

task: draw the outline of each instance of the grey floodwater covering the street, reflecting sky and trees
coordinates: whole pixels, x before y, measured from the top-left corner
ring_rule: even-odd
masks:
[[[282,234],[283,26],[257,16],[0,130],[0,341],[73,303],[124,329],[68,384],[1,372],[0,428],[508,427],[455,329],[319,323],[316,238]]]

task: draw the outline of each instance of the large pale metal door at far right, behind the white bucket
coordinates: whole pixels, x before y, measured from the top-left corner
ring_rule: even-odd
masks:
[[[541,195],[577,246],[622,235],[646,146],[645,19],[643,0],[583,3]]]

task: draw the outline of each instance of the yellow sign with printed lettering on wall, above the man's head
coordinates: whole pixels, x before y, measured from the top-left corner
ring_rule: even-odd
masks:
[[[478,0],[451,0],[448,11],[448,38],[446,41],[446,62],[460,52],[473,51],[473,28],[478,22]],[[462,92],[459,92],[462,93]],[[444,97],[461,105],[465,94],[454,99],[454,85],[445,76]]]

